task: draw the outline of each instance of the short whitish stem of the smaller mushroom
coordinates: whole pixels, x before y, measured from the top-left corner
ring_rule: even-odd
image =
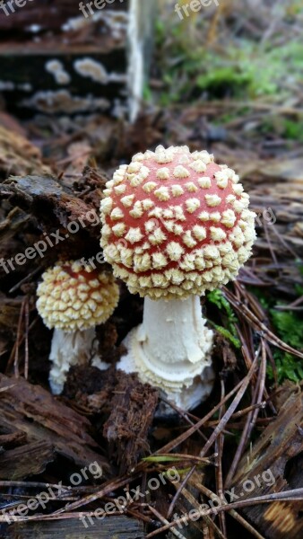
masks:
[[[67,373],[73,365],[88,365],[91,359],[98,357],[98,345],[95,329],[66,332],[55,329],[49,360],[52,367],[49,373],[49,385],[55,395],[63,392]]]

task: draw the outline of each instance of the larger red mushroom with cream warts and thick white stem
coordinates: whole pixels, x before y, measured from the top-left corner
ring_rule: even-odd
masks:
[[[101,202],[104,257],[145,297],[143,323],[118,368],[138,372],[190,409],[212,390],[212,331],[199,296],[238,275],[255,240],[255,214],[238,175],[206,151],[158,146],[134,155]]]

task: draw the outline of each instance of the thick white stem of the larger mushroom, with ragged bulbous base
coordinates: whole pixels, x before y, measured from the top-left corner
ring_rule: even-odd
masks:
[[[125,341],[118,368],[137,371],[170,400],[194,408],[212,391],[212,331],[205,327],[200,299],[144,300],[143,323]]]

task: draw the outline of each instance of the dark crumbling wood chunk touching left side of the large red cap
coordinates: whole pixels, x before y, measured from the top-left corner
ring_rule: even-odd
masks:
[[[22,208],[25,212],[23,219],[26,214],[30,216],[31,226],[27,227],[30,228],[30,245],[45,241],[47,234],[53,243],[53,247],[48,245],[43,253],[42,263],[36,256],[34,261],[16,265],[20,280],[29,274],[33,265],[34,269],[51,266],[60,256],[67,260],[77,259],[80,252],[88,260],[92,254],[100,252],[100,199],[106,181],[102,172],[87,167],[73,186],[51,176],[18,176],[4,182],[2,195],[9,197],[12,206]],[[71,233],[69,225],[72,231],[76,228],[77,234]],[[22,235],[26,234],[25,231],[23,228]],[[29,246],[26,235],[25,241],[21,235],[18,244],[13,245],[10,237],[7,242],[7,234],[11,233],[4,231],[2,234],[2,244],[4,247],[7,245],[2,255],[5,260],[12,257],[13,252],[24,252],[25,246]],[[4,274],[3,268],[0,273]]]

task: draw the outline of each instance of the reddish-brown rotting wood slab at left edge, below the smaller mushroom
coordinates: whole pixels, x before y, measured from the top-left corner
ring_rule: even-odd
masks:
[[[108,462],[97,452],[98,445],[88,434],[89,420],[57,401],[41,386],[29,384],[23,378],[0,375],[0,390],[4,388],[6,391],[0,391],[1,429],[13,426],[18,432],[26,433],[28,443],[48,442],[57,454],[75,464],[87,465],[96,461],[107,474]],[[24,451],[26,453],[26,449]],[[21,460],[13,461],[16,476],[27,477]],[[23,473],[17,472],[18,465]]]

